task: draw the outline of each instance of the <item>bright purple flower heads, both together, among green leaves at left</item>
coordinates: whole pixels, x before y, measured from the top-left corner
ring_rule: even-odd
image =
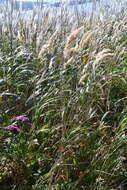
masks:
[[[32,124],[30,123],[30,119],[28,117],[18,116],[15,118],[15,123],[4,127],[4,130],[11,131],[13,134],[17,135],[20,132],[21,126],[23,126],[24,124],[25,126],[28,126],[28,127],[32,126]]]

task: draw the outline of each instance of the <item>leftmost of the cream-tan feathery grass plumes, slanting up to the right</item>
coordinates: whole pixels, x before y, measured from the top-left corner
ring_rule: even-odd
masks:
[[[54,39],[56,37],[56,34],[58,33],[58,31],[55,31],[54,34],[50,37],[50,39],[48,40],[48,42],[42,46],[39,54],[38,54],[38,58],[41,58],[42,55],[46,52],[46,51],[50,51],[52,46],[53,46],[53,42]]]

